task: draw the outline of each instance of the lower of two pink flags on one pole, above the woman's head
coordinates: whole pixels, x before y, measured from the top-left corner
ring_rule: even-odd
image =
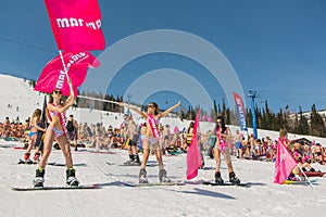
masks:
[[[75,95],[77,88],[84,82],[88,67],[98,67],[100,62],[90,52],[63,53],[63,60],[68,69]],[[64,95],[70,95],[70,88],[60,55],[51,60],[39,76],[34,90],[51,93],[54,89],[61,89]]]

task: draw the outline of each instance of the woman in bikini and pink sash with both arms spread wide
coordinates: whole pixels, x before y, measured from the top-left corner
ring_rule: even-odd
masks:
[[[120,105],[129,107],[130,110],[141,115],[145,119],[147,119],[148,127],[146,128],[146,133],[142,138],[143,156],[141,162],[141,168],[139,171],[139,183],[148,183],[146,164],[150,155],[150,149],[154,150],[158,159],[159,169],[160,169],[159,170],[160,182],[170,182],[171,180],[166,177],[166,170],[164,169],[163,161],[162,161],[162,151],[159,142],[161,137],[161,133],[159,131],[159,124],[160,124],[160,118],[166,116],[168,113],[171,113],[172,111],[180,106],[180,101],[178,101],[177,104],[175,104],[174,106],[170,107],[168,110],[162,113],[159,113],[159,105],[155,102],[150,102],[148,104],[148,113],[141,112],[138,108],[124,103],[120,103]]]

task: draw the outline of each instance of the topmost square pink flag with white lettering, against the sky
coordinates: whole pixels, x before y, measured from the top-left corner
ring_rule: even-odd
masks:
[[[59,50],[104,50],[97,0],[45,0]]]

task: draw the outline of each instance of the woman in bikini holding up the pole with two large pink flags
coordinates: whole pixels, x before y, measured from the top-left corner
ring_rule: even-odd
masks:
[[[42,157],[39,162],[39,167],[36,169],[36,177],[34,179],[34,187],[43,186],[43,177],[46,173],[46,165],[49,155],[52,150],[52,144],[54,139],[60,145],[60,149],[65,157],[66,164],[66,183],[72,187],[79,184],[78,180],[75,178],[75,169],[73,168],[73,158],[71,153],[71,145],[67,139],[67,131],[65,128],[65,111],[68,110],[75,102],[74,90],[72,81],[68,79],[68,86],[71,95],[64,103],[61,103],[62,92],[60,89],[53,90],[50,95],[49,103],[47,105],[48,118],[50,125],[46,131],[45,137],[45,150]]]

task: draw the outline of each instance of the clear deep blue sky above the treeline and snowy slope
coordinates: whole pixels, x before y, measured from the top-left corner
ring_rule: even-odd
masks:
[[[236,71],[243,91],[258,91],[259,106],[268,100],[275,112],[287,104],[291,111],[298,111],[299,105],[308,111],[313,103],[318,110],[326,108],[326,1],[100,0],[99,3],[106,47],[146,30],[183,30],[218,48]],[[0,20],[0,73],[37,79],[46,63],[57,55],[43,2],[2,1]],[[110,86],[108,91],[123,93],[130,79],[164,67],[197,76],[213,99],[221,103],[224,98],[218,82],[212,81],[205,68],[168,53],[130,62],[115,77],[115,84],[120,85]],[[164,107],[178,97],[166,91],[166,94],[153,93],[148,100],[155,99]],[[246,102],[249,106],[248,99]]]

